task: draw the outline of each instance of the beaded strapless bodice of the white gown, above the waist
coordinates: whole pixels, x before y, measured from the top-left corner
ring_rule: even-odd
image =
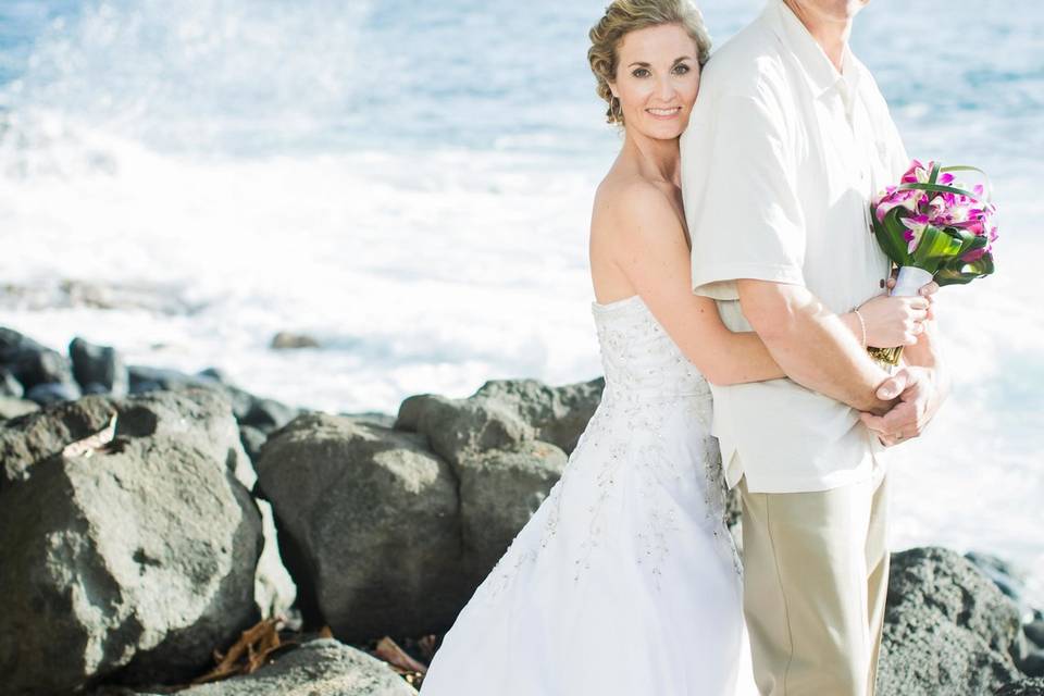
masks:
[[[592,302],[606,388],[617,394],[709,395],[710,387],[637,295]]]

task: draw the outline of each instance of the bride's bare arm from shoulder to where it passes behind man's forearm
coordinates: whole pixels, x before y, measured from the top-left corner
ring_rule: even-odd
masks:
[[[714,301],[693,294],[685,235],[660,190],[631,184],[611,207],[607,240],[617,251],[617,265],[709,382],[729,385],[786,376],[757,334],[729,331]]]

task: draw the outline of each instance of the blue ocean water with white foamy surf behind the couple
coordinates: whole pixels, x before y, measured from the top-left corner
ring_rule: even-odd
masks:
[[[701,7],[720,44],[761,4]],[[604,5],[4,0],[0,325],[331,411],[596,376]],[[997,274],[941,295],[955,389],[897,450],[893,543],[1012,559],[1044,606],[1044,7],[875,0],[853,46],[909,151],[986,169],[1003,213]]]

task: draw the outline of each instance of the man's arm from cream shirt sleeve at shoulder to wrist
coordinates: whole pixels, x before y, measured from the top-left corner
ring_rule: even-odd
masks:
[[[693,239],[693,289],[738,299],[747,322],[795,382],[860,411],[891,405],[887,378],[838,316],[805,286],[806,221],[783,86],[697,100],[682,138],[682,192]],[[745,279],[744,279],[745,278]],[[897,394],[897,393],[896,393]]]

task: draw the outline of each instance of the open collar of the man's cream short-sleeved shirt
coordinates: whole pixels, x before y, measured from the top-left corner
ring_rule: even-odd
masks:
[[[787,49],[797,58],[805,78],[812,88],[812,95],[818,99],[832,88],[840,87],[838,83],[847,83],[849,95],[855,95],[859,87],[859,61],[852,49],[845,44],[842,53],[842,72],[837,72],[834,64],[826,58],[822,47],[808,33],[801,21],[783,0],[769,0],[762,17],[772,28]]]

